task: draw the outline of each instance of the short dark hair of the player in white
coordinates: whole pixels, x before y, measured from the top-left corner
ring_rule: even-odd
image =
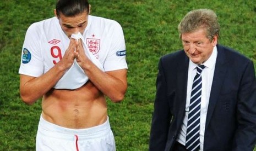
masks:
[[[56,13],[59,17],[60,14],[64,16],[75,16],[87,11],[89,14],[88,0],[57,0]]]

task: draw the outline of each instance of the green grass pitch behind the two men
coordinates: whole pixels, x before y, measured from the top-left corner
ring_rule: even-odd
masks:
[[[26,106],[19,96],[21,47],[32,22],[53,16],[55,0],[0,3],[0,150],[35,150],[41,100]],[[118,21],[127,47],[128,91],[121,103],[108,101],[117,150],[148,150],[160,56],[182,48],[177,25],[192,9],[216,11],[219,43],[256,65],[256,3],[253,1],[90,1],[91,14]],[[255,66],[256,67],[256,66]],[[256,150],[256,149],[254,149]]]

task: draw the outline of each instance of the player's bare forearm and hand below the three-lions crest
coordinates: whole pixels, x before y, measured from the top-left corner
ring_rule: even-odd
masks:
[[[90,53],[90,52],[88,52]],[[115,71],[101,71],[94,63],[86,56],[83,42],[78,40],[75,58],[79,66],[84,70],[90,82],[104,95],[109,97],[113,102],[123,100],[127,90],[127,70],[119,69]]]

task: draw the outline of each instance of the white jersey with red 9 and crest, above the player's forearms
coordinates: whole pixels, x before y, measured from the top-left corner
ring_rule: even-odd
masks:
[[[104,71],[128,68],[123,30],[118,22],[89,15],[83,38]],[[62,59],[70,39],[56,17],[32,24],[26,32],[19,74],[39,77]]]

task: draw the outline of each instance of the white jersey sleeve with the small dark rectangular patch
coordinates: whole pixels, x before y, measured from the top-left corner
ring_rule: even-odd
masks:
[[[113,71],[125,68],[128,68],[128,66],[126,63],[126,44],[123,30],[121,25],[114,21],[112,26],[110,52],[105,60],[104,69],[105,71]]]

